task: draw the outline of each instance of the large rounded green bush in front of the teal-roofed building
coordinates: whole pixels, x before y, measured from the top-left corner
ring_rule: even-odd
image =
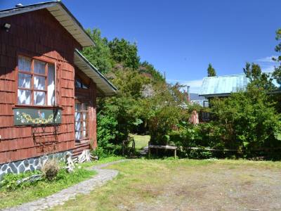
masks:
[[[214,124],[226,148],[253,150],[281,146],[281,116],[265,91],[249,87],[211,101]]]

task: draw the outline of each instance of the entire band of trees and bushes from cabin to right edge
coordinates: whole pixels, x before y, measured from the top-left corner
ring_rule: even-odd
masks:
[[[276,89],[273,79],[281,82],[280,67],[266,74],[259,65],[246,63],[247,91],[211,99],[211,107],[205,110],[211,114],[211,122],[192,125],[190,114],[202,108],[188,103],[184,87],[167,84],[152,64],[141,62],[136,43],[118,38],[108,41],[99,30],[88,32],[97,46],[84,49],[85,56],[119,89],[117,96],[98,101],[98,148],[94,153],[100,158],[120,154],[129,133],[149,133],[151,143],[181,146],[178,155],[189,158],[278,158],[281,97],[272,91]],[[277,40],[280,34],[277,30]],[[275,51],[280,49],[278,44]],[[274,59],[281,62],[281,56]],[[208,76],[215,75],[209,64]]]

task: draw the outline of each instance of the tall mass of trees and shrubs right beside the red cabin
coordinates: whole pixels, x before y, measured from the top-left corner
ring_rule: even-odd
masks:
[[[188,121],[183,87],[166,84],[151,63],[141,62],[136,43],[118,38],[108,41],[99,30],[88,33],[96,47],[84,49],[84,55],[118,88],[117,96],[98,101],[98,148],[94,153],[100,158],[120,154],[130,132],[150,131],[152,141],[165,142],[174,124]]]

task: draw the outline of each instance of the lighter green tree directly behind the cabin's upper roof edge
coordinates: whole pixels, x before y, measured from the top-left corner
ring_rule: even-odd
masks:
[[[96,46],[86,47],[82,53],[100,72],[103,74],[110,72],[112,69],[112,59],[107,39],[101,37],[100,30],[98,29],[86,30],[86,32],[93,39]]]

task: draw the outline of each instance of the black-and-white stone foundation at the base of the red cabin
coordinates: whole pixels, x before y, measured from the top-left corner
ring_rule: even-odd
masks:
[[[22,172],[41,170],[42,165],[48,159],[56,158],[59,161],[65,162],[65,155],[67,151],[60,153],[53,153],[49,155],[43,155],[36,158],[27,158],[25,160],[18,160],[0,164],[0,181],[3,179],[4,174],[13,173],[18,174]]]

